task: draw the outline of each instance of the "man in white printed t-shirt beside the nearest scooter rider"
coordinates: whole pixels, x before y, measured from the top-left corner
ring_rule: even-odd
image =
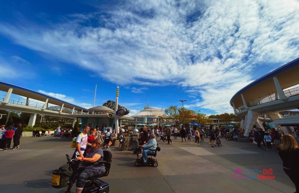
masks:
[[[72,159],[76,157],[84,157],[83,154],[86,152],[87,145],[87,133],[89,131],[89,125],[83,126],[83,131],[80,133],[76,139],[76,150],[72,156]],[[85,154],[86,155],[86,154]]]

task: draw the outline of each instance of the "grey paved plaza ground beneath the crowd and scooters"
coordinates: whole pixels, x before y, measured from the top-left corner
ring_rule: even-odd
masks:
[[[207,139],[207,138],[205,138]],[[1,192],[64,192],[51,187],[49,171],[66,163],[71,155],[69,139],[22,137],[18,150],[0,151]],[[194,141],[194,138],[192,139]],[[132,151],[111,148],[110,174],[102,178],[110,192],[295,192],[295,186],[282,169],[278,151],[258,149],[254,143],[222,139],[222,147],[211,148],[208,140],[195,146],[159,142],[158,167],[137,167]],[[273,170],[275,179],[251,178]],[[241,174],[234,174],[240,169]],[[257,173],[255,173],[257,172]],[[264,175],[266,176],[266,175]],[[268,175],[267,175],[268,176]],[[74,189],[73,189],[74,190]]]

